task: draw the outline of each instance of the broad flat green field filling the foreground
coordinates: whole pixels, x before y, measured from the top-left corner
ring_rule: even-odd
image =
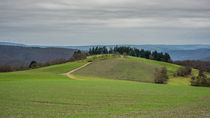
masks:
[[[210,89],[116,80],[0,83],[1,117],[198,117],[209,115]]]

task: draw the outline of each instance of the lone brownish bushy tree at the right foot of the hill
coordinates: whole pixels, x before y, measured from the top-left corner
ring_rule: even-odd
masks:
[[[168,80],[167,68],[155,69],[154,82],[157,84],[166,84]]]

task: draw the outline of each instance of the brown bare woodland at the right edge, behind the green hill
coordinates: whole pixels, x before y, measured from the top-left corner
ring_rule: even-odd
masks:
[[[174,61],[173,63],[196,68],[205,72],[210,73],[210,61],[199,61],[199,60],[185,60],[185,61]]]

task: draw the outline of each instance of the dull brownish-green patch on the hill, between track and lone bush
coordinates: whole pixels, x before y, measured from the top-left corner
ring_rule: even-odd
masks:
[[[155,68],[158,67],[153,64],[141,63],[140,61],[114,58],[92,63],[73,74],[119,80],[154,82],[153,73]]]

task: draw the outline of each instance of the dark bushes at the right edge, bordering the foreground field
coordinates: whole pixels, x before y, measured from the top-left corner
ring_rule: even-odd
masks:
[[[204,72],[200,70],[197,77],[194,76],[191,78],[191,85],[210,87],[210,78],[207,78]]]

